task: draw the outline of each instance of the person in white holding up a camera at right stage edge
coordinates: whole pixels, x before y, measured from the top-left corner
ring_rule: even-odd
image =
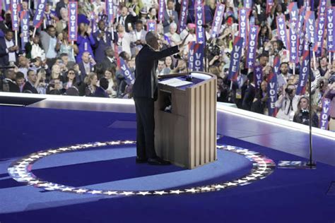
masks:
[[[295,91],[295,85],[288,84],[285,90],[281,92],[281,96],[276,101],[276,107],[278,108],[277,118],[293,121],[293,116],[298,109],[300,99],[299,95],[295,95]]]

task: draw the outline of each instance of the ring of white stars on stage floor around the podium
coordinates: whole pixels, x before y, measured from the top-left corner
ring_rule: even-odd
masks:
[[[242,176],[238,179],[233,179],[231,181],[224,181],[221,183],[215,183],[211,185],[198,186],[192,188],[180,188],[177,190],[165,189],[163,191],[117,191],[117,190],[95,190],[91,188],[66,186],[58,183],[52,183],[44,181],[38,178],[32,173],[33,164],[39,159],[43,159],[49,155],[65,153],[65,152],[76,152],[78,150],[92,149],[95,147],[103,146],[115,146],[115,145],[134,145],[136,141],[131,140],[117,140],[110,142],[96,142],[87,143],[81,145],[72,145],[69,147],[58,147],[57,149],[49,149],[40,152],[35,152],[26,157],[23,157],[16,162],[13,162],[10,167],[8,167],[8,174],[11,175],[13,179],[20,183],[25,183],[30,186],[35,186],[37,188],[42,188],[46,191],[60,191],[67,193],[77,193],[77,194],[92,194],[92,195],[173,195],[173,194],[190,194],[190,193],[206,193],[213,191],[221,191],[227,188],[233,188],[236,186],[245,186],[249,183],[257,181],[259,179],[264,179],[269,176],[275,169],[276,164],[272,159],[261,155],[259,152],[254,152],[241,147],[235,147],[231,145],[217,145],[218,150],[226,150],[229,152],[235,152],[239,155],[244,156],[252,162],[252,169],[248,174]]]

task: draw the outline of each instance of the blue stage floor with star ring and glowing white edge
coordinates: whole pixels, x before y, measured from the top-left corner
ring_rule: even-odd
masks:
[[[218,103],[218,161],[135,164],[132,100],[0,93],[0,222],[334,222],[335,133]]]

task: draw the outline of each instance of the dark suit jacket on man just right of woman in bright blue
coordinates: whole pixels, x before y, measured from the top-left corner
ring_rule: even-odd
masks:
[[[98,40],[98,35],[99,34],[100,34],[100,30],[93,33],[93,37],[94,37],[94,41],[95,41],[94,58],[95,58],[95,61],[97,61],[98,63],[101,62],[106,57],[105,49],[107,47],[111,47],[110,43],[112,42],[112,33],[105,32],[106,42],[102,39]],[[113,42],[117,42],[117,40],[118,40],[117,33],[114,32]]]

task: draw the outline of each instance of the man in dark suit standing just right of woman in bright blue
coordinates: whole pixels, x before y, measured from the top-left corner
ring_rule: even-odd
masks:
[[[105,58],[105,49],[111,46],[111,42],[117,42],[118,37],[117,32],[111,33],[105,31],[106,25],[104,20],[98,22],[98,28],[99,30],[93,33],[95,40],[94,58],[95,61],[100,63]]]

